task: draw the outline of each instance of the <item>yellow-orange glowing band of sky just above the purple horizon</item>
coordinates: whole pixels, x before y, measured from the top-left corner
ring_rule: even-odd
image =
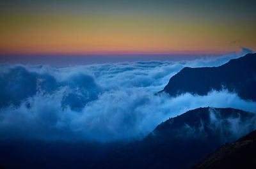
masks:
[[[256,49],[254,25],[86,15],[22,14],[2,20],[2,54],[220,54]]]

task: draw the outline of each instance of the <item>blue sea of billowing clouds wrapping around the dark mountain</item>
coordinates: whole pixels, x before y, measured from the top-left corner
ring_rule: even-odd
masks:
[[[256,112],[256,103],[236,93],[211,91],[171,98],[161,91],[186,66],[220,66],[246,54],[195,61],[148,61],[55,68],[0,64],[0,138],[96,140],[146,136],[158,124],[198,107]]]

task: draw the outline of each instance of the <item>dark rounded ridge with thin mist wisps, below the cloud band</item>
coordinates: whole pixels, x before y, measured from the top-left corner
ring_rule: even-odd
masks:
[[[232,108],[197,108],[161,123],[92,168],[190,168],[220,145],[256,128],[256,116]]]

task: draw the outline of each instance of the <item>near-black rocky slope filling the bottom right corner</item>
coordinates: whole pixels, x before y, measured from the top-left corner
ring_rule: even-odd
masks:
[[[226,143],[193,167],[193,169],[214,168],[256,168],[256,130],[236,142]]]

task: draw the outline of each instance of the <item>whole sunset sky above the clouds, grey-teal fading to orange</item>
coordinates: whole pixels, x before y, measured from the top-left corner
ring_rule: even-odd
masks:
[[[241,47],[256,50],[255,4],[220,0],[1,1],[0,57],[3,61],[12,55],[108,58],[139,54],[157,59],[162,54],[177,60],[186,54],[241,52]]]

